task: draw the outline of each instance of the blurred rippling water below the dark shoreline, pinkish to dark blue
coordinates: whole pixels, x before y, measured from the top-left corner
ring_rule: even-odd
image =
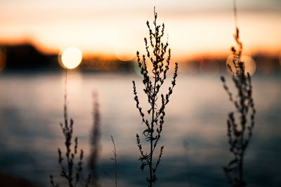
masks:
[[[57,148],[64,147],[59,126],[63,120],[63,78],[60,73],[0,75],[0,172],[40,186],[49,186],[49,174],[59,180]],[[141,134],[143,125],[133,101],[132,80],[145,109],[139,76],[70,72],[68,110],[79,148],[84,149],[87,159],[93,125],[92,92],[98,91],[102,123],[99,167],[113,176],[112,134],[117,144],[119,186],[146,186],[136,147],[136,132]],[[281,185],[280,80],[280,74],[253,76],[256,126],[244,166],[249,186]],[[159,142],[164,145],[164,155],[155,186],[228,186],[222,167],[232,158],[226,137],[226,116],[232,110],[218,76],[180,74],[166,109]],[[188,149],[183,140],[188,141]],[[103,172],[100,183],[113,186]]]

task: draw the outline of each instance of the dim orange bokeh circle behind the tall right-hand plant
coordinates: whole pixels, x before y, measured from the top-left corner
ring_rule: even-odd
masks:
[[[249,56],[242,56],[241,62],[244,62],[245,74],[249,73],[250,76],[253,76],[256,72],[256,62]],[[226,60],[226,70],[230,75],[233,75],[233,73],[228,68],[228,64],[230,65],[231,69],[235,71],[235,67],[233,65],[233,55],[229,55],[228,59]]]

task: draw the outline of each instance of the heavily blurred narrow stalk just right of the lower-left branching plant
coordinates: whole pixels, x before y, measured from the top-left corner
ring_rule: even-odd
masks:
[[[93,186],[100,186],[98,184],[98,155],[100,151],[100,109],[98,104],[98,94],[93,93],[93,129],[91,131],[91,153],[89,158],[89,167],[91,169],[91,184]]]

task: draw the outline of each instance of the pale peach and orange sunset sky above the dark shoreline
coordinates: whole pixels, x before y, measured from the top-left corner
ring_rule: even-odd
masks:
[[[0,43],[133,57],[144,50],[154,6],[174,57],[226,55],[235,44],[232,0],[0,0]],[[281,52],[281,1],[237,0],[237,15],[244,53]]]

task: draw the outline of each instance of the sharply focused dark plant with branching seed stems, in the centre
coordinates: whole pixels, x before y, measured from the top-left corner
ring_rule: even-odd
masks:
[[[146,152],[143,150],[143,146],[141,144],[141,138],[138,134],[136,134],[136,141],[138,145],[138,149],[141,152],[141,156],[139,160],[141,161],[141,169],[143,170],[145,166],[148,165],[150,170],[150,175],[147,177],[147,181],[149,186],[152,187],[152,183],[155,183],[157,180],[156,172],[159,162],[162,158],[163,148],[160,147],[159,155],[157,157],[157,162],[153,163],[153,153],[157,146],[157,143],[161,137],[161,132],[163,130],[164,116],[165,116],[165,107],[166,104],[169,103],[169,97],[173,92],[173,88],[176,85],[176,77],[178,75],[178,63],[175,63],[175,71],[173,80],[171,81],[171,86],[169,87],[169,92],[166,95],[161,94],[161,102],[157,104],[157,99],[159,98],[159,91],[161,86],[166,79],[166,73],[169,70],[169,64],[171,60],[171,49],[168,50],[168,55],[166,57],[166,62],[164,55],[166,54],[166,49],[168,47],[168,42],[165,44],[162,43],[161,39],[164,36],[164,24],[162,25],[162,29],[160,25],[157,25],[157,13],[154,8],[154,22],[155,26],[154,31],[150,28],[150,24],[147,21],[146,25],[148,26],[149,34],[150,34],[150,46],[152,48],[152,55],[150,55],[148,39],[144,39],[145,41],[145,49],[147,53],[147,57],[152,63],[152,77],[150,77],[148,73],[148,65],[146,62],[146,57],[143,55],[141,60],[140,53],[137,51],[136,55],[138,57],[138,66],[141,68],[141,74],[143,75],[143,85],[145,88],[143,91],[145,95],[148,97],[148,103],[150,104],[150,108],[148,109],[148,113],[145,114],[143,109],[140,106],[140,102],[138,100],[138,95],[136,92],[136,83],[133,81],[133,95],[136,100],[136,108],[141,114],[142,123],[145,124],[145,130],[143,131],[143,136],[145,137],[145,141],[150,143],[149,151]],[[161,31],[160,31],[161,29]],[[159,101],[159,100],[158,100]],[[160,107],[159,107],[160,106]],[[151,118],[151,120],[148,120]],[[156,131],[156,132],[155,132]]]

